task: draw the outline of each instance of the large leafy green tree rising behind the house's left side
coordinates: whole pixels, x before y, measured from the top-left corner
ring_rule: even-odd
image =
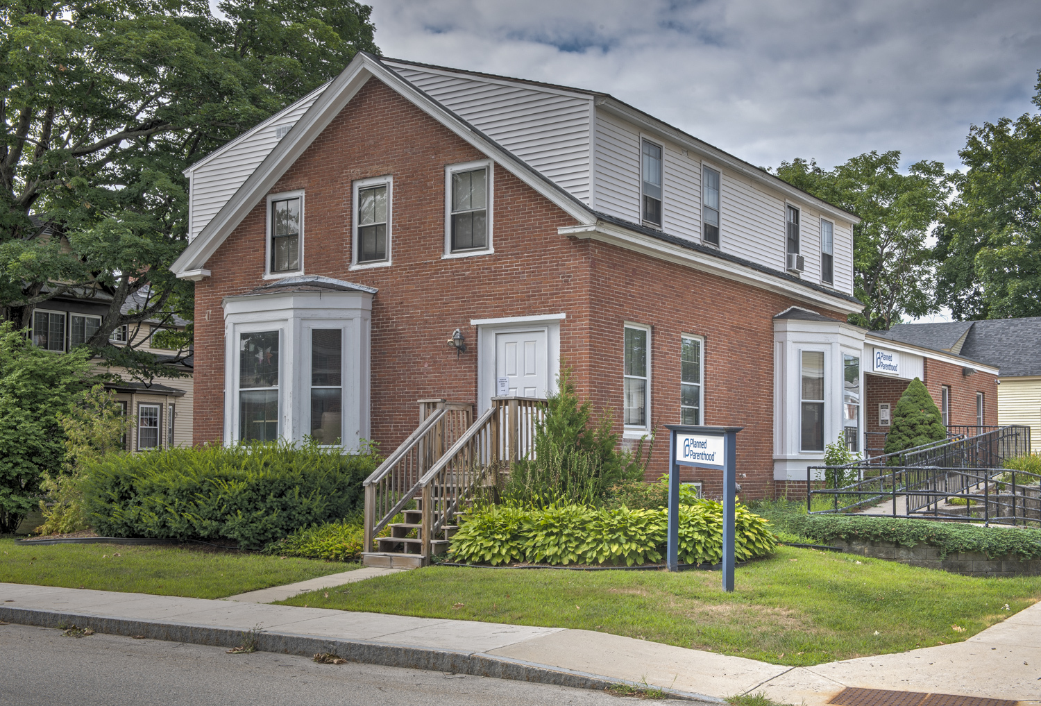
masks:
[[[354,0],[219,8],[0,4],[0,309],[23,327],[52,297],[110,295],[88,345],[144,379],[175,371],[108,336],[146,319],[192,318],[193,285],[168,269],[186,245],[182,170],[336,76],[357,51],[378,52],[371,8]],[[53,235],[33,237],[30,212]],[[144,292],[144,307],[121,312]]]

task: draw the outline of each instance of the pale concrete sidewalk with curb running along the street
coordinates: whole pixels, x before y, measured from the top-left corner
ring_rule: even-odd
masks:
[[[783,703],[822,706],[845,686],[861,686],[1041,703],[1041,603],[965,642],[812,667],[586,630],[14,583],[0,583],[0,620],[226,647],[259,625],[265,651],[332,651],[371,663],[568,686],[645,680],[703,701],[764,690]]]

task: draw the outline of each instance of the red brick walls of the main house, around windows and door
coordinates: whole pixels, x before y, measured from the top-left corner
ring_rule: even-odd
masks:
[[[415,400],[477,401],[477,331],[471,319],[566,311],[560,354],[598,410],[621,431],[623,323],[653,327],[652,420],[679,421],[680,334],[705,337],[705,422],[743,426],[743,495],[773,495],[772,317],[795,304],[779,295],[604,244],[561,236],[573,225],[549,200],[497,167],[494,254],[442,259],[446,165],[482,158],[474,148],[371,80],[272,193],[305,190],[304,271],[367,284],[373,300],[372,436],[384,452],[414,427]],[[352,180],[392,174],[393,266],[349,272]],[[195,442],[223,428],[221,300],[264,283],[264,201],[238,225],[196,286]],[[828,311],[822,311],[829,314]],[[837,319],[840,314],[831,313]],[[445,345],[462,329],[469,351]],[[666,469],[661,429],[653,477]],[[718,474],[691,472],[718,495]]]

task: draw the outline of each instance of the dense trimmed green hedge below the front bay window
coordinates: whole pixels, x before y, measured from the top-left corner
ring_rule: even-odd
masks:
[[[356,511],[378,460],[313,444],[161,449],[88,461],[81,487],[102,535],[262,547]]]

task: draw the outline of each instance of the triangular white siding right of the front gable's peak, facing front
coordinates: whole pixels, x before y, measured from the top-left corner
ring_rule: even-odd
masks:
[[[589,203],[590,96],[388,64],[405,80]]]

